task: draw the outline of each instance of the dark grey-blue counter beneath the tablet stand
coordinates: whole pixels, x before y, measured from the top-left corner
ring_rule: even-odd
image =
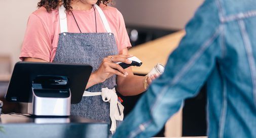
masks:
[[[1,115],[0,137],[14,138],[107,138],[107,123],[82,117],[31,118],[21,115]]]

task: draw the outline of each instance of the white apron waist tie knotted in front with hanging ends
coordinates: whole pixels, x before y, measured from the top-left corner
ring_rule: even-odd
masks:
[[[113,134],[117,128],[116,120],[123,121],[124,119],[124,106],[118,101],[116,88],[108,89],[107,87],[101,88],[101,92],[84,91],[83,97],[100,96],[104,102],[109,102],[109,117],[111,119],[110,131]],[[120,113],[119,113],[120,111]]]

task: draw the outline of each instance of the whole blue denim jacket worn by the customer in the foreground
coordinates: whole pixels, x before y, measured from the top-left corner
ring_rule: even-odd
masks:
[[[207,82],[208,136],[256,137],[256,1],[206,0],[113,135],[150,137]]]

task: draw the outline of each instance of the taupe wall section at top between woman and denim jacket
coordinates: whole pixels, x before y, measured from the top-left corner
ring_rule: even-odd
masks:
[[[116,0],[126,24],[181,29],[204,0]]]

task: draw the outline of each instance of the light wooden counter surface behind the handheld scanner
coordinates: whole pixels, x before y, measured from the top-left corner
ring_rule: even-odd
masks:
[[[133,67],[133,72],[135,74],[148,74],[157,63],[165,65],[170,53],[177,48],[179,41],[185,34],[186,32],[181,30],[129,49],[129,54],[142,61],[140,67]]]

